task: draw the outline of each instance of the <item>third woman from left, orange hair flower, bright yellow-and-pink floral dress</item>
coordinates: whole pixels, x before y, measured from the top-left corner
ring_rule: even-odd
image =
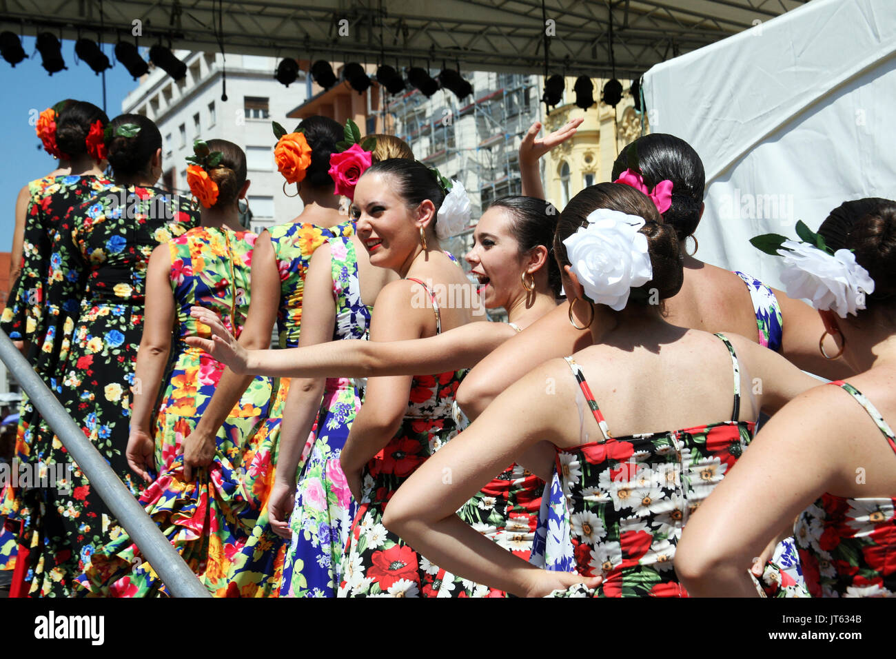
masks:
[[[261,512],[255,484],[263,483],[270,470],[271,447],[256,441],[254,428],[267,414],[271,382],[258,377],[246,388],[221,426],[207,468],[185,464],[183,440],[202,417],[224,370],[183,342],[203,330],[189,309],[196,304],[212,308],[225,325],[240,331],[257,238],[238,221],[238,200],[249,186],[244,152],[225,140],[197,142],[194,150],[197,164],[187,169],[187,181],[202,204],[201,226],[157,247],[150,259],[127,459],[144,481],[159,469],[143,492],[142,505],[202,583],[223,595],[230,560]],[[261,269],[258,276],[266,273]],[[178,337],[174,346],[172,326]],[[171,351],[174,366],[165,377]],[[159,390],[161,403],[154,410]],[[78,583],[90,594],[168,592],[125,534],[94,552]]]

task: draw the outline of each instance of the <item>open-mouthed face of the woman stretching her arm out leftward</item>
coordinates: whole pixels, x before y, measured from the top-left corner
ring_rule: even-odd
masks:
[[[486,308],[510,308],[525,297],[521,275],[526,259],[511,230],[513,215],[504,208],[489,208],[473,231],[473,248],[464,258],[479,281],[479,297]]]

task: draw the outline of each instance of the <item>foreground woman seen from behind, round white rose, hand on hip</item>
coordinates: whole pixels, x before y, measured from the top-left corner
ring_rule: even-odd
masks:
[[[633,212],[595,210],[599,195]],[[740,455],[760,405],[779,406],[814,380],[742,337],[668,324],[659,301],[675,295],[683,273],[675,233],[657,220],[628,186],[573,198],[555,254],[565,290],[593,313],[593,345],[500,395],[395,494],[386,528],[454,574],[513,594],[584,594],[577,584],[600,578],[588,594],[685,594],[671,566],[691,511]],[[766,384],[762,394],[741,395],[753,377]],[[547,565],[574,575],[539,570],[454,515],[488,473],[546,438],[572,513],[568,527],[549,527]]]

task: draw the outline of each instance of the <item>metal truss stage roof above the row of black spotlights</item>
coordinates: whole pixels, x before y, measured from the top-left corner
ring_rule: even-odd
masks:
[[[49,30],[114,43],[250,55],[375,61],[542,73],[610,74],[612,15],[618,77],[701,48],[806,0],[4,0],[0,29]],[[216,11],[221,4],[223,12]],[[51,6],[48,6],[51,5]],[[544,14],[542,7],[544,7]],[[101,8],[101,11],[100,11]],[[546,27],[546,21],[553,22]]]

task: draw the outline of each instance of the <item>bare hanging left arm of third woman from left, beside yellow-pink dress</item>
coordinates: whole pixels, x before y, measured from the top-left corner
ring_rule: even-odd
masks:
[[[152,250],[146,273],[146,308],[134,366],[134,406],[126,454],[127,464],[147,482],[151,481],[149,470],[155,468],[152,458],[155,451],[152,413],[168,364],[174,331],[175,302],[169,280],[170,269],[168,245],[159,245]]]

